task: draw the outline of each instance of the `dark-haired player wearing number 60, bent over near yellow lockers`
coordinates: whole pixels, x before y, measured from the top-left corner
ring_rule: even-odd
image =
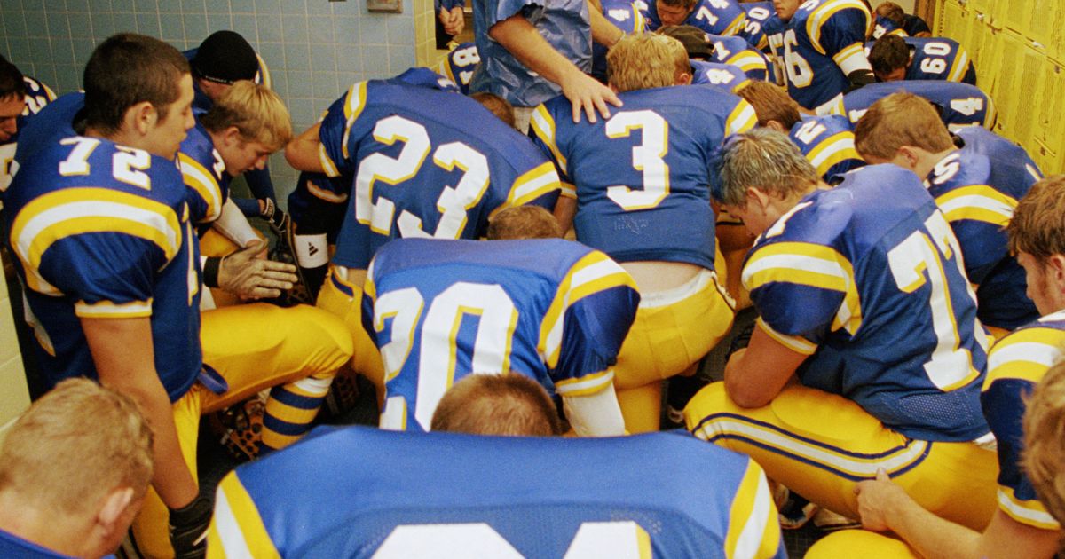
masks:
[[[882,82],[945,80],[977,84],[977,67],[956,40],[946,37],[902,38],[895,35],[866,44],[869,65]]]

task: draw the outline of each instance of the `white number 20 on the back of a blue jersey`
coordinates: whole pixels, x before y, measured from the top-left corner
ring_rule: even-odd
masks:
[[[425,299],[415,287],[381,295],[374,305],[374,329],[384,331],[391,318],[391,342],[381,347],[384,380],[388,382],[403,369],[415,343],[417,325]],[[518,325],[518,308],[507,292],[497,284],[456,282],[429,303],[420,330],[417,363],[417,395],[414,417],[429,430],[432,412],[444,392],[455,382],[458,350],[456,335],[465,316],[477,317],[477,334],[473,344],[471,371],[502,374],[510,368],[510,339]],[[396,402],[389,398],[386,407]],[[397,416],[398,415],[398,416]],[[404,417],[386,410],[381,414],[382,429],[399,429]]]

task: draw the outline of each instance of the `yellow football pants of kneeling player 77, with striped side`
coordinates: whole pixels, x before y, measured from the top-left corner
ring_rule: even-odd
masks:
[[[743,453],[770,479],[830,510],[858,517],[854,486],[884,468],[922,507],[982,531],[996,509],[998,461],[976,443],[908,439],[857,404],[801,385],[744,409],[715,382],[685,408],[700,439]]]

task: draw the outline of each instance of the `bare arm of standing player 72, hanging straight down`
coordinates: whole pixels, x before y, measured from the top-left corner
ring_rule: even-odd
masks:
[[[154,435],[151,483],[163,503],[177,509],[192,503],[198,490],[181,456],[170,398],[155,372],[150,320],[82,318],[81,327],[100,383],[133,398],[148,420]]]

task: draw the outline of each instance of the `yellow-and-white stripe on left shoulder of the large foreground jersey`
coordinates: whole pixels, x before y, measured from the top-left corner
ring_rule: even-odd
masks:
[[[251,500],[235,472],[218,483],[215,493],[214,517],[208,532],[207,555],[219,557],[280,558]]]

